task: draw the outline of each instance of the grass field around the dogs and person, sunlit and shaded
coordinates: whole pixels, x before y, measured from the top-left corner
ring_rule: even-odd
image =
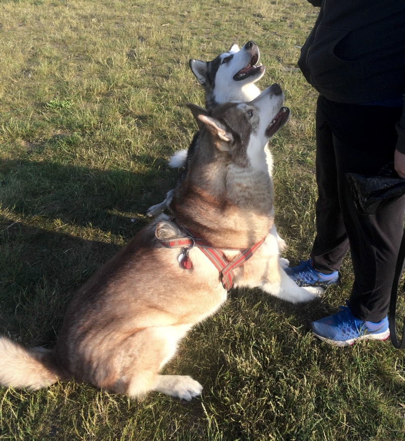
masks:
[[[256,41],[259,85],[278,82],[292,109],[272,141],[276,223],[292,263],[308,255],[316,93],[296,61],[316,15],[303,0],[0,0],[2,334],[52,347],[72,293],[177,179],[167,160],[195,130],[182,104],[204,104],[188,59],[232,42]],[[190,403],[75,383],[0,388],[0,439],[405,439],[402,353],[389,342],[335,348],[309,332],[352,281],[347,256],[341,285],[317,301],[231,291],[165,369],[204,385]]]

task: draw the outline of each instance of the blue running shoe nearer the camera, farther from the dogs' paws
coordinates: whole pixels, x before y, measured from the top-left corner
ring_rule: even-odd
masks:
[[[337,346],[353,344],[357,340],[386,340],[389,337],[388,318],[381,322],[365,322],[356,319],[347,306],[340,306],[341,311],[329,317],[312,322],[312,332],[321,340]]]

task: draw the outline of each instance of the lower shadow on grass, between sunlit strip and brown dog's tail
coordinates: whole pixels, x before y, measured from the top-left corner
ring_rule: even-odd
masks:
[[[74,292],[120,245],[12,223],[0,216],[0,334],[51,345]]]

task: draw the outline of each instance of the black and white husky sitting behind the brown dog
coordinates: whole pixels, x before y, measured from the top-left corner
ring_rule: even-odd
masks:
[[[254,41],[248,41],[241,49],[234,44],[228,52],[224,52],[212,61],[191,59],[189,66],[197,81],[204,87],[206,108],[212,110],[226,102],[248,102],[260,95],[255,85],[265,72],[265,67],[259,64],[260,52]],[[188,149],[176,152],[169,161],[169,167],[181,168],[178,184],[187,174],[187,164],[197,146],[198,133],[191,141]],[[267,155],[270,161],[269,171],[272,168],[270,152]],[[177,184],[177,185],[178,185]],[[157,216],[166,210],[172,200],[173,190],[170,190],[166,199],[160,204],[148,208],[148,217]]]

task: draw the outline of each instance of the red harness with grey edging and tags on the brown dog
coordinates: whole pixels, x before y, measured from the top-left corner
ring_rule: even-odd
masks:
[[[173,219],[172,219],[173,220]],[[253,253],[260,247],[260,245],[265,241],[265,237],[260,240],[257,244],[253,245],[246,250],[240,251],[240,249],[235,248],[222,248],[224,251],[240,251],[240,253],[230,262],[225,257],[224,253],[219,248],[213,248],[204,239],[200,239],[192,234],[189,230],[182,228],[186,233],[186,237],[180,237],[178,239],[159,239],[156,234],[156,239],[166,248],[178,248],[183,247],[183,252],[179,256],[179,262],[182,264],[183,268],[189,270],[191,268],[191,261],[188,257],[188,252],[194,246],[198,247],[203,251],[203,253],[214,263],[215,268],[219,272],[219,279],[222,282],[222,286],[229,290],[233,286],[233,270],[240,267],[248,259],[253,256]]]

